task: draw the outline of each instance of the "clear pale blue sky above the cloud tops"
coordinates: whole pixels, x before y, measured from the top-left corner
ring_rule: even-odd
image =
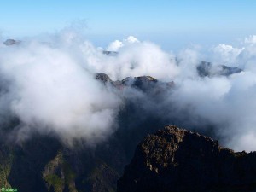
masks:
[[[0,31],[21,38],[57,32],[83,20],[96,44],[134,35],[171,48],[230,43],[256,34],[254,0],[3,0]]]

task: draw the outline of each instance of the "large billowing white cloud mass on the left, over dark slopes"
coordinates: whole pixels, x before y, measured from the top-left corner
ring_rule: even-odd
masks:
[[[1,106],[8,102],[9,112],[19,117],[19,139],[30,129],[90,142],[112,133],[121,101],[93,78],[68,44],[28,42],[0,52],[1,77],[8,82]]]

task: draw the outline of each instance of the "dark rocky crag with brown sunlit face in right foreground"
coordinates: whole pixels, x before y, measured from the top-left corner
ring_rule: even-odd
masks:
[[[256,152],[235,153],[210,137],[166,126],[138,145],[118,191],[256,191]]]

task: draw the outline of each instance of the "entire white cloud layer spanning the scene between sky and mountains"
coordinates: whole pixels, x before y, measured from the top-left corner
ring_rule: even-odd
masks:
[[[256,150],[254,38],[245,38],[240,47],[219,44],[207,51],[190,47],[177,55],[134,37],[113,41],[107,50],[118,53],[106,55],[72,32],[46,41],[1,44],[1,119],[20,119],[18,140],[36,130],[54,132],[68,143],[74,138],[96,143],[118,129],[116,118],[124,98],[144,96],[144,109],[154,108],[155,116],[170,122],[176,119],[188,128],[207,131],[214,127],[226,146]],[[216,67],[241,67],[243,72],[202,78],[196,71],[201,61],[212,61]],[[120,93],[102,85],[94,79],[98,72],[114,80],[150,75],[174,80],[175,87],[154,102],[138,90]]]

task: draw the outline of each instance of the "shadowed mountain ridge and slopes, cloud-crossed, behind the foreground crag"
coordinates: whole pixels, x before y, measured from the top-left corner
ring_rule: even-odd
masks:
[[[117,91],[129,89],[155,97],[172,83],[163,83],[152,77],[126,78],[119,81],[97,73],[96,79]],[[32,133],[23,143],[9,140],[20,125],[19,119],[11,117],[2,125],[0,135],[0,187],[17,188],[20,192],[66,192],[91,191],[113,192],[123,174],[125,165],[131,161],[137,143],[158,126],[166,125],[155,117],[154,112],[144,113],[143,97],[137,100],[124,98],[125,105],[117,117],[119,129],[107,140],[95,146],[78,143],[68,147],[55,134]],[[138,117],[139,113],[144,113]],[[134,120],[136,119],[136,120]]]

